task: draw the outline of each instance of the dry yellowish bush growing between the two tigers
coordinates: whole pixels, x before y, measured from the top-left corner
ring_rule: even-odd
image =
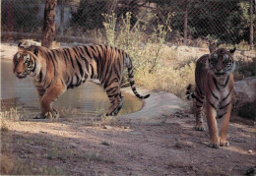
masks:
[[[148,36],[145,35],[147,24],[131,27],[131,13],[122,18],[119,31],[114,14],[104,15],[103,25],[106,43],[125,50],[133,59],[137,85],[182,97],[187,85],[194,81],[195,63],[189,61],[190,58],[177,58],[176,51],[165,45],[167,33],[171,31],[171,17],[168,15],[164,25],[156,26]]]

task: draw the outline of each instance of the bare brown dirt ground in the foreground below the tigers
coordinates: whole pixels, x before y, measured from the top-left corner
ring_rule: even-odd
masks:
[[[86,117],[6,121],[1,173],[244,175],[256,166],[254,122],[232,118],[230,147],[215,149],[207,147],[208,132],[193,129],[191,114],[160,118],[156,123]]]

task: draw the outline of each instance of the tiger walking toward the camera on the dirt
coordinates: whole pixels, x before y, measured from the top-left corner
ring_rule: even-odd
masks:
[[[231,99],[233,96],[233,60],[234,49],[227,51],[219,48],[211,54],[200,57],[196,63],[196,88],[191,90],[188,86],[186,94],[195,99],[196,130],[204,131],[203,107],[206,110],[207,124],[210,133],[209,147],[227,147],[226,131],[231,112]],[[223,118],[220,133],[216,118]]]

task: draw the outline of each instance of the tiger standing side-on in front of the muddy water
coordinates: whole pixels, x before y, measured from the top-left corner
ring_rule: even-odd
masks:
[[[89,79],[98,79],[110,100],[106,115],[117,115],[124,97],[121,93],[121,78],[128,69],[130,86],[139,98],[133,79],[133,66],[129,55],[123,50],[105,45],[87,45],[59,49],[18,44],[14,55],[14,74],[23,79],[30,75],[37,88],[41,106],[39,118],[58,116],[52,103],[66,89],[74,88]]]

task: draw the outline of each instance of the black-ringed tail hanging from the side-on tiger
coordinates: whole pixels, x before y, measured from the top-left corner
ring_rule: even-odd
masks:
[[[126,67],[128,70],[128,77],[129,77],[129,82],[130,82],[130,86],[133,90],[133,93],[140,99],[145,99],[150,97],[150,94],[147,94],[145,96],[142,96],[138,93],[136,87],[135,87],[135,82],[134,82],[134,76],[133,76],[133,66],[132,66],[132,61],[131,58],[127,57],[126,58]]]

